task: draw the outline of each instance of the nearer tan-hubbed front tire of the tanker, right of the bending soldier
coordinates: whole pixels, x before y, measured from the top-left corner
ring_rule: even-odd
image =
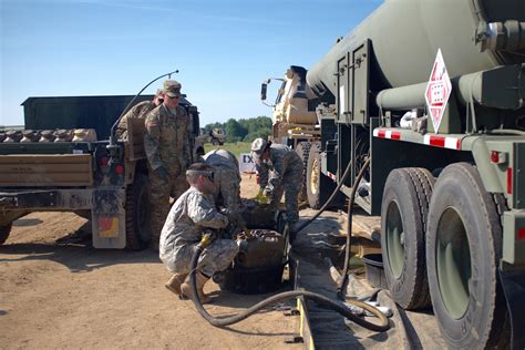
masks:
[[[337,184],[321,173],[321,143],[315,142],[310,147],[306,174],[306,189],[310,208],[319,209],[328,200],[336,187]],[[339,193],[330,203],[330,206],[343,205],[344,199],[344,195]]]

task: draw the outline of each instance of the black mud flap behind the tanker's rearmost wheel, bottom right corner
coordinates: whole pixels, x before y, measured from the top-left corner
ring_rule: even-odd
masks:
[[[498,271],[511,316],[511,349],[525,349],[525,274],[523,270]]]

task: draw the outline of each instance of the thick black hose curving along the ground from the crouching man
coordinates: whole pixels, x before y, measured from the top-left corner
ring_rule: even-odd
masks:
[[[351,320],[351,321],[353,321],[353,322],[358,323],[359,326],[362,326],[367,329],[378,331],[378,332],[385,331],[385,330],[390,329],[389,320],[387,319],[387,317],[380,310],[378,310],[377,308],[374,308],[374,307],[372,307],[372,306],[370,306],[366,302],[357,301],[357,300],[348,301],[351,305],[354,305],[354,306],[360,307],[360,308],[362,308],[367,311],[370,311],[372,315],[374,315],[375,317],[378,317],[380,319],[381,323],[379,323],[379,325],[371,323],[371,322],[367,321],[364,318],[360,318],[359,316],[354,315],[350,310],[350,308],[348,308],[341,301],[332,300],[332,299],[327,298],[325,296],[321,296],[319,294],[311,292],[311,291],[306,291],[306,290],[301,290],[301,291],[294,290],[294,291],[280,292],[278,295],[271,296],[271,297],[269,297],[269,298],[267,298],[262,301],[257,302],[256,305],[251,306],[250,308],[246,309],[243,312],[238,312],[237,315],[229,316],[229,317],[224,317],[224,318],[216,318],[216,317],[209,315],[208,311],[206,311],[206,309],[200,303],[200,299],[199,299],[198,292],[197,292],[197,285],[195,282],[195,272],[196,272],[197,261],[198,261],[198,258],[200,257],[200,254],[204,251],[204,249],[205,249],[205,247],[202,244],[198,244],[197,249],[195,250],[195,253],[192,257],[192,262],[191,262],[191,267],[189,267],[191,268],[191,270],[189,270],[189,284],[191,284],[192,294],[193,294],[192,299],[193,299],[193,302],[195,303],[195,307],[197,308],[198,313],[200,313],[200,316],[203,318],[205,318],[212,326],[226,327],[226,326],[229,326],[229,325],[233,325],[233,323],[237,323],[237,322],[248,318],[249,316],[254,315],[258,310],[260,310],[260,309],[262,309],[262,308],[265,308],[269,305],[276,303],[278,301],[284,301],[284,300],[287,300],[287,299],[292,299],[292,298],[297,298],[297,297],[302,296],[307,299],[316,301],[319,305],[327,306],[327,307],[338,311],[339,313],[341,313],[342,316],[344,316],[349,320]]]

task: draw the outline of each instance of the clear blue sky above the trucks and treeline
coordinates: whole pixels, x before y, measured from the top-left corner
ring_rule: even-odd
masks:
[[[381,2],[0,0],[0,124],[23,124],[29,96],[134,95],[175,69],[202,125],[270,116],[260,82],[308,69]]]

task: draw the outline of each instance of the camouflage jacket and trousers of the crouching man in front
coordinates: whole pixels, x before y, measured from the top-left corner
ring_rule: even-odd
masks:
[[[210,196],[189,187],[173,205],[161,234],[159,258],[174,274],[188,274],[205,228],[220,229],[228,218],[215,209]],[[235,240],[216,239],[200,255],[197,268],[205,276],[225,270],[239,251]]]

